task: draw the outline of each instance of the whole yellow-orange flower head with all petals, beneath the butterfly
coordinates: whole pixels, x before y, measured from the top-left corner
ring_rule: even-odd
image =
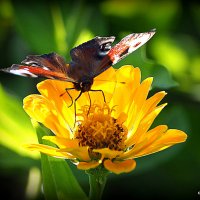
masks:
[[[70,159],[79,169],[88,170],[103,165],[116,174],[130,172],[136,167],[135,158],[184,142],[187,135],[176,129],[159,125],[150,129],[154,119],[166,106],[158,105],[164,91],[147,97],[152,78],[141,82],[139,68],[123,66],[109,68],[95,78],[92,89],[76,101],[74,107],[68,94],[71,83],[45,80],[38,84],[40,95],[24,99],[24,109],[34,120],[43,123],[55,136],[44,136],[57,147],[30,144],[28,148],[50,156]],[[104,80],[104,81],[102,81]],[[78,91],[70,90],[75,99]],[[89,98],[90,97],[90,98]],[[90,103],[91,99],[91,103]]]

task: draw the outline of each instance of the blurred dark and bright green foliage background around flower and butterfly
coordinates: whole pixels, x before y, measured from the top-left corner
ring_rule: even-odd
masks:
[[[184,144],[138,159],[136,170],[130,174],[110,176],[104,198],[196,199],[200,191],[199,24],[200,4],[196,1],[1,0],[0,67],[20,63],[30,54],[52,51],[69,62],[70,49],[96,35],[114,35],[118,42],[129,33],[156,28],[157,33],[146,45],[115,67],[132,64],[141,68],[143,78],[153,76],[151,93],[168,92],[164,99],[168,106],[155,124],[181,129],[189,137]],[[26,190],[29,174],[33,167],[40,168],[39,161],[20,147],[36,139],[22,99],[37,92],[39,81],[0,74],[0,190],[8,199],[30,199]],[[84,172],[70,167],[87,193]],[[43,199],[41,194],[37,191],[32,199]]]

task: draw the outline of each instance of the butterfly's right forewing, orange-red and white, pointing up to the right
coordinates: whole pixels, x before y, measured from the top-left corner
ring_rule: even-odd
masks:
[[[153,37],[154,34],[155,29],[145,33],[132,33],[124,37],[103,57],[101,63],[95,68],[95,76],[99,75],[110,66],[118,63],[130,53],[144,45]]]

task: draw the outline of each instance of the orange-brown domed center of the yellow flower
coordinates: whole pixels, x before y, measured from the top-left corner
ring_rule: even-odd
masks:
[[[121,120],[111,116],[113,108],[110,109],[107,104],[93,104],[91,107],[83,106],[81,111],[78,116],[82,120],[74,134],[80,146],[89,146],[89,152],[101,148],[125,149],[124,141],[128,131]]]

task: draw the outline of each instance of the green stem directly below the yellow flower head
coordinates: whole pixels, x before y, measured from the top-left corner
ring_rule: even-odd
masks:
[[[90,200],[101,200],[103,190],[107,181],[108,172],[103,170],[102,168],[96,168],[93,170],[87,171],[89,176],[90,183]]]

